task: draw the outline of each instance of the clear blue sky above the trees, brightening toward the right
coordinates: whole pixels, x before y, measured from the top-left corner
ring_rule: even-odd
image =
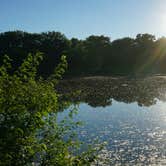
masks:
[[[166,36],[166,0],[0,0],[0,32],[60,31],[68,38]]]

